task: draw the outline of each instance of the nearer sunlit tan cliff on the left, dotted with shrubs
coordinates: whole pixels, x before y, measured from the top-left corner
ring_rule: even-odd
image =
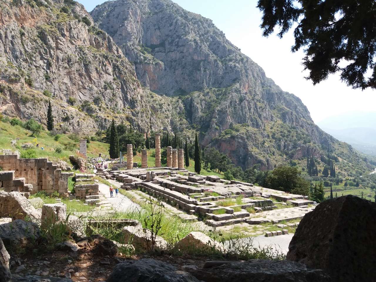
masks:
[[[63,0],[0,4],[2,112],[45,124],[51,99],[58,124],[83,133],[105,129],[112,117],[144,130],[170,123],[156,119],[150,91],[82,5]]]

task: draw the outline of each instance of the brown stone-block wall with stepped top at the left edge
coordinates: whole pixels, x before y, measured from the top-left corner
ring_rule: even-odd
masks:
[[[62,195],[68,193],[69,173],[62,173],[46,158],[20,159],[17,155],[0,155],[0,167],[13,170],[16,178],[24,178],[25,183],[32,184],[30,193],[42,190],[47,193],[58,191]]]

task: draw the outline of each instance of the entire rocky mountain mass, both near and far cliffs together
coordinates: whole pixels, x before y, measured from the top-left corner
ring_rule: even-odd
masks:
[[[169,0],[0,0],[0,109],[94,133],[114,117],[215,146],[243,168],[329,152],[346,170],[367,159],[316,126],[211,20]],[[342,161],[343,160],[343,161]],[[304,166],[304,165],[302,165]]]

